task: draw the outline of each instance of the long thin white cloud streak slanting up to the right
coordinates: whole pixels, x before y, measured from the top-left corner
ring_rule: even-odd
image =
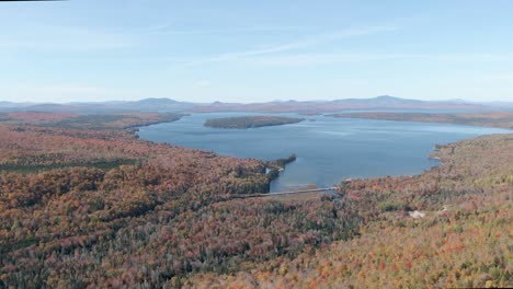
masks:
[[[209,62],[220,62],[220,61],[236,60],[236,59],[241,59],[241,58],[247,58],[247,57],[255,57],[255,56],[278,54],[278,53],[284,53],[284,51],[292,51],[292,50],[314,47],[314,46],[318,46],[321,44],[327,44],[327,43],[331,43],[331,42],[340,41],[344,38],[366,36],[366,35],[373,35],[373,34],[378,34],[378,33],[392,32],[397,30],[398,27],[395,27],[395,26],[371,26],[371,27],[350,28],[350,30],[343,30],[339,32],[317,34],[317,35],[304,37],[303,39],[297,41],[297,42],[277,44],[277,45],[267,46],[267,47],[263,47],[259,49],[250,49],[250,50],[237,51],[237,53],[226,53],[226,54],[212,56],[205,59],[189,61],[185,63],[185,66],[197,66],[197,65],[204,65],[204,63],[209,63]]]

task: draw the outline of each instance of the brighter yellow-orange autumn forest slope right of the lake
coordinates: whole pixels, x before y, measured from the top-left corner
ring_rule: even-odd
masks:
[[[189,286],[513,286],[513,135],[442,146],[436,157],[442,166],[420,176],[341,184],[351,211],[362,218],[358,236],[236,275],[198,275]],[[412,218],[408,212],[415,210]]]

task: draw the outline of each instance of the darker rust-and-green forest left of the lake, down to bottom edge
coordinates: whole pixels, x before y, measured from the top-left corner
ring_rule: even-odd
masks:
[[[231,199],[269,192],[261,161],[39,117],[0,124],[2,286],[181,286],[357,234],[350,200]]]

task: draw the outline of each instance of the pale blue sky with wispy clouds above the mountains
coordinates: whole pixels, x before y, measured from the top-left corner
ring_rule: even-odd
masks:
[[[513,101],[513,1],[0,2],[0,101]]]

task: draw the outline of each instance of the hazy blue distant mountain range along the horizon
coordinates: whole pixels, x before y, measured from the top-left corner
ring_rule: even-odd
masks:
[[[116,112],[258,112],[319,114],[363,109],[432,109],[432,111],[499,111],[513,109],[513,102],[474,103],[465,100],[419,101],[383,95],[372,99],[345,99],[334,101],[274,101],[267,103],[209,104],[178,102],[170,99],[145,99],[101,103],[13,103],[0,102],[0,111],[66,112],[66,113],[116,113]]]

